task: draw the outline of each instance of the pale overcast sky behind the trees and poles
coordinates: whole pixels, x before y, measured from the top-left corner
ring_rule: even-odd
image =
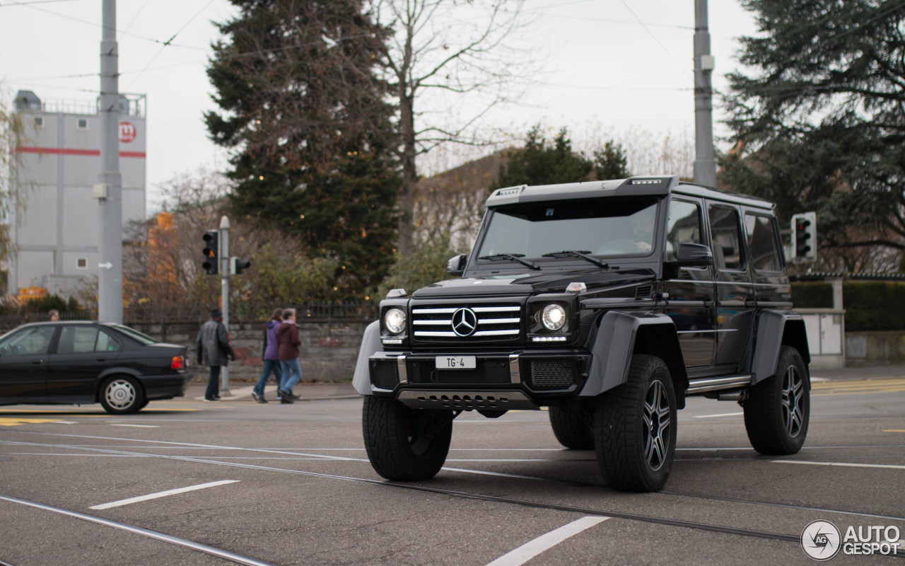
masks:
[[[119,0],[119,90],[147,95],[148,214],[158,187],[199,166],[224,168],[202,114],[213,110],[205,66],[225,0]],[[576,132],[693,133],[693,0],[528,0],[524,40],[546,72],[525,105],[486,120],[523,134],[535,123]],[[100,0],[0,0],[0,89],[43,101],[93,103],[100,79]],[[736,38],[756,31],[738,0],[710,1],[714,87],[738,67]],[[169,41],[168,45],[165,45]],[[715,100],[716,102],[716,100]],[[715,110],[714,127],[724,117]],[[641,173],[641,172],[637,172]]]

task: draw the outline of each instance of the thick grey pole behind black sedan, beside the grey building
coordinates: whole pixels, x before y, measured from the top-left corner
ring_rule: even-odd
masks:
[[[102,1],[100,41],[100,203],[98,320],[122,323],[122,176],[119,174],[119,46],[116,0]]]

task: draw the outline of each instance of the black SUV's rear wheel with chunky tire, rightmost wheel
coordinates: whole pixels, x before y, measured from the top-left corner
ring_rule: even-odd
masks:
[[[751,388],[744,409],[748,440],[757,452],[786,456],[801,450],[811,416],[811,376],[798,350],[779,350],[776,374]]]

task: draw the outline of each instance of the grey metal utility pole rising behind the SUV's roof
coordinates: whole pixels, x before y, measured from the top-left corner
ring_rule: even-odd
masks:
[[[707,24],[707,0],[694,0],[694,182],[717,186],[713,158],[713,55]]]

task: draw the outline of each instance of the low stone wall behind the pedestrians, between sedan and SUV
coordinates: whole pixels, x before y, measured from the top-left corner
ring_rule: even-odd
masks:
[[[302,381],[347,381],[352,379],[358,358],[358,347],[367,321],[305,322],[299,325],[301,339],[300,365]],[[200,322],[195,323],[131,323],[130,326],[159,341],[186,345],[195,379],[207,379],[206,369],[198,367],[195,343]],[[230,340],[236,360],[229,364],[230,380],[252,381],[261,374],[262,322],[231,322]]]

